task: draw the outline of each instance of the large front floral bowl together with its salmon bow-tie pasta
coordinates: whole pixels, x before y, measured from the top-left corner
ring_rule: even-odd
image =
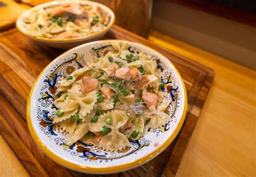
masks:
[[[184,122],[186,89],[170,60],[122,40],[84,44],[38,76],[30,133],[53,160],[85,173],[125,171],[156,157]]]

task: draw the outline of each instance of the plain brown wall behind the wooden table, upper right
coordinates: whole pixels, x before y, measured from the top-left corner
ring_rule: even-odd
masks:
[[[153,1],[151,25],[190,45],[256,69],[256,28],[167,0]]]

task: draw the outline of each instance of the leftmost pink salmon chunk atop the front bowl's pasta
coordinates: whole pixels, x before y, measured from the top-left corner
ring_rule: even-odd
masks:
[[[83,82],[81,84],[81,91],[83,95],[87,95],[92,91],[95,91],[97,88],[98,81],[97,79],[92,79],[91,77],[84,76]],[[100,84],[98,84],[98,91],[101,88]]]

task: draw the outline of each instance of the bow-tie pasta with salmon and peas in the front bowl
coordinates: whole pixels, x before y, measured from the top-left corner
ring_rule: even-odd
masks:
[[[57,83],[62,94],[54,102],[53,123],[68,132],[68,145],[83,139],[103,150],[122,150],[170,119],[157,62],[131,52],[124,41],[111,45],[114,52]]]

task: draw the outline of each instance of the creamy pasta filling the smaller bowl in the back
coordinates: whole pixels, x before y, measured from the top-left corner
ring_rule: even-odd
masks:
[[[70,3],[37,8],[22,17],[23,27],[32,36],[73,39],[102,31],[110,15],[100,6]]]

